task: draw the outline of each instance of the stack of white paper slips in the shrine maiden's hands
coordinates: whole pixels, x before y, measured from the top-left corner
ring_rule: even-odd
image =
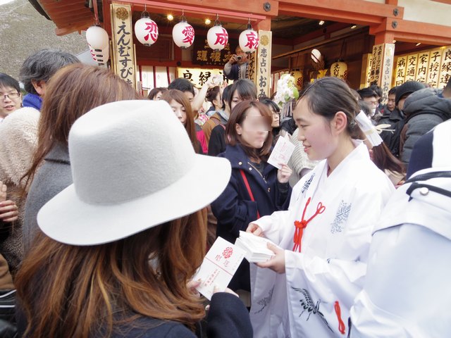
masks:
[[[272,242],[264,237],[240,231],[240,237],[237,238],[235,245],[245,250],[245,258],[249,263],[261,263],[275,256],[273,251],[268,249],[268,243]]]

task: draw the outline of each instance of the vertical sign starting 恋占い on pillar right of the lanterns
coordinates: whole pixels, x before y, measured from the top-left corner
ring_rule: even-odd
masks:
[[[259,48],[257,49],[257,59],[254,62],[255,84],[257,85],[257,96],[270,96],[271,88],[271,44],[272,32],[259,30]],[[252,77],[249,77],[252,79]]]

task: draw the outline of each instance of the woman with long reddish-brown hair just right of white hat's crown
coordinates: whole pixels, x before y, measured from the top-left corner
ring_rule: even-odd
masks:
[[[188,137],[190,137],[192,147],[197,154],[204,154],[199,139],[197,139],[196,126],[194,125],[194,115],[192,113],[190,100],[178,89],[169,89],[161,95],[161,100],[168,102],[178,120],[185,127]]]

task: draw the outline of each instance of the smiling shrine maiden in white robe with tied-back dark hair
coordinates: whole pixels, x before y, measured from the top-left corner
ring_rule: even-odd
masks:
[[[395,189],[354,139],[359,111],[337,77],[317,80],[297,101],[298,139],[309,159],[321,162],[295,185],[288,211],[247,229],[270,239],[275,253],[251,271],[256,337],[346,337],[349,331],[371,232]]]

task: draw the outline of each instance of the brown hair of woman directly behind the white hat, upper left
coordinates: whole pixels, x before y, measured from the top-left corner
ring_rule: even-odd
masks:
[[[57,143],[67,146],[69,130],[75,120],[102,104],[133,99],[143,97],[106,68],[76,63],[58,70],[47,84],[39,118],[37,150],[30,170],[22,177],[25,191],[49,151]]]

